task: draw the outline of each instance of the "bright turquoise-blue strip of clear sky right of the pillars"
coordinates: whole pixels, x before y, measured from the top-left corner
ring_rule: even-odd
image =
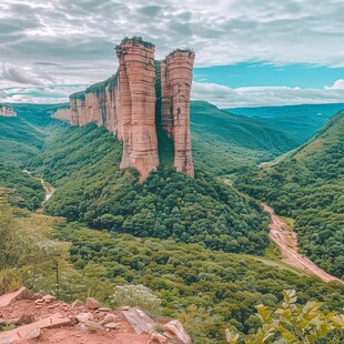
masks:
[[[230,88],[290,87],[323,89],[344,79],[344,68],[316,67],[312,64],[273,65],[267,62],[242,62],[194,69],[196,82],[212,82]]]

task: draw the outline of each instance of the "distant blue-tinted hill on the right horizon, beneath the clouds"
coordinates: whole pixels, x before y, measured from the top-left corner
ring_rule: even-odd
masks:
[[[259,120],[283,131],[300,145],[308,141],[331,117],[343,109],[344,103],[237,108],[225,111]]]

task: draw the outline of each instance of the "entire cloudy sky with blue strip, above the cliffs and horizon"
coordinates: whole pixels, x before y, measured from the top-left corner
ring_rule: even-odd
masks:
[[[115,73],[124,37],[195,51],[221,108],[344,100],[343,0],[1,0],[0,101],[65,102]]]

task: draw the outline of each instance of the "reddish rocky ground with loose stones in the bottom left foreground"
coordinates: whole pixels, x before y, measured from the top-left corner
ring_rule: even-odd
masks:
[[[92,297],[68,304],[26,287],[0,296],[0,344],[192,343],[179,321],[158,325],[138,307],[113,311]]]

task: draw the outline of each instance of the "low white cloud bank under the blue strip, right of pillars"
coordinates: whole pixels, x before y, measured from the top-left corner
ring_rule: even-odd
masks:
[[[231,89],[215,83],[194,82],[192,99],[205,100],[222,109],[342,103],[344,102],[344,89],[300,89],[287,87]]]

